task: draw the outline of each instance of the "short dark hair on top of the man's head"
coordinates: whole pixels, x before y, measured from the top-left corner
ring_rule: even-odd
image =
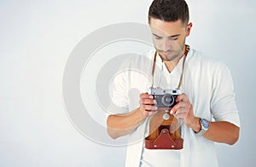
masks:
[[[188,24],[189,7],[184,0],[154,0],[148,11],[149,23],[151,18]]]

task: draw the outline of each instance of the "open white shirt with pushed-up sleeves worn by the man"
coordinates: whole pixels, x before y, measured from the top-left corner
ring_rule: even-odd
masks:
[[[113,79],[113,104],[108,108],[109,112],[127,113],[139,107],[139,95],[147,92],[151,86],[154,52],[153,49],[147,55],[125,60],[120,67],[123,71]],[[158,84],[157,82],[161,80],[162,89],[176,88],[182,70],[182,60],[171,74],[165,72],[164,78],[163,76],[160,78],[161,60],[158,57],[154,84]],[[201,52],[190,49],[185,62],[181,89],[189,96],[195,117],[206,118],[210,121],[213,119],[227,121],[240,127],[233,81],[230,71],[224,63],[209,59]],[[218,166],[213,141],[201,135],[195,135],[194,131],[184,124],[181,126],[181,130],[184,140],[179,159],[181,167]],[[148,119],[129,135],[125,166],[140,165],[143,142],[147,135]]]

